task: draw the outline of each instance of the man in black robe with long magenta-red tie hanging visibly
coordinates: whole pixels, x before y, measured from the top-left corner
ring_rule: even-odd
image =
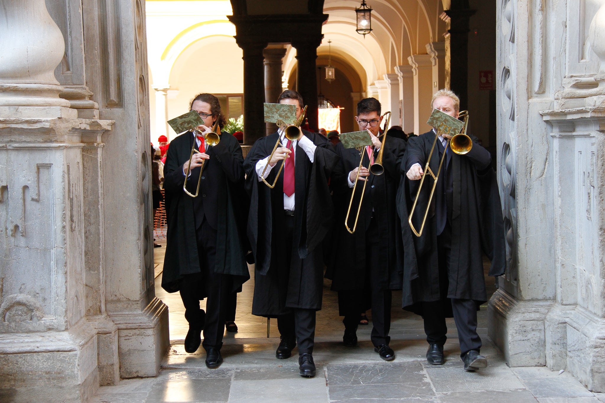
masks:
[[[302,97],[284,91],[279,103],[296,106]],[[276,317],[281,343],[276,357],[289,358],[298,343],[301,376],[315,376],[315,312],[321,309],[321,242],[332,223],[329,178],[338,164],[332,144],[322,135],[302,131],[296,141],[283,139],[269,161],[281,131],[257,140],[244,161],[250,195],[248,237],[255,256],[252,314]],[[285,160],[273,189],[270,184]]]

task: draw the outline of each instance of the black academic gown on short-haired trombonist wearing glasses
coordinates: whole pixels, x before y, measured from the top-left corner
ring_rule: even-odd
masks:
[[[382,140],[382,137],[380,138]],[[348,187],[348,174],[359,166],[359,151],[355,148],[345,149],[342,143],[336,144],[336,153],[341,156],[342,175],[332,176],[332,189],[336,205],[335,239],[332,243],[332,253],[335,259],[330,262],[326,277],[332,279],[333,291],[362,290],[367,288],[365,278],[366,270],[366,231],[370,227],[372,208],[374,219],[378,225],[380,243],[384,246],[382,253],[376,258],[379,260],[381,270],[373,272],[374,281],[382,290],[401,289],[401,276],[403,271],[403,244],[401,241],[401,221],[397,216],[395,199],[399,179],[401,178],[401,162],[405,153],[405,141],[387,136],[382,166],[385,172],[382,175],[368,176],[369,181],[365,187],[364,199],[359,212],[359,221],[355,233],[350,234],[344,226],[347,208],[353,188]],[[378,152],[374,152],[374,158]],[[363,166],[369,167],[367,152],[363,152]],[[361,198],[363,181],[359,181],[355,191],[355,198],[348,219],[348,226],[353,228],[355,215]]]

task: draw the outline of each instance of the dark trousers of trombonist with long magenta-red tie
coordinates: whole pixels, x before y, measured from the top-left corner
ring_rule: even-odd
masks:
[[[290,272],[292,259],[300,259],[293,242],[294,230],[296,228],[295,216],[286,215],[284,224],[282,245],[286,245],[286,247],[284,248],[284,265],[282,269]],[[296,338],[299,355],[302,353],[313,353],[313,345],[315,344],[315,309],[292,308],[290,314],[277,317],[277,328],[280,330],[282,337],[289,340]]]

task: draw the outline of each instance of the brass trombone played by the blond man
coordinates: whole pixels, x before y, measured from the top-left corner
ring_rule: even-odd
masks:
[[[433,173],[433,171],[429,167],[429,164],[431,163],[431,157],[433,156],[433,150],[435,149],[435,144],[437,144],[437,139],[439,138],[440,135],[444,134],[445,132],[442,132],[440,130],[437,131],[437,134],[435,135],[435,140],[433,140],[433,146],[431,147],[431,152],[428,153],[427,164],[425,164],[425,166],[424,166],[424,174],[422,175],[422,179],[420,179],[420,185],[418,186],[418,192],[416,193],[416,199],[414,199],[414,205],[412,206],[412,210],[410,211],[410,217],[408,218],[408,223],[410,224],[410,228],[411,228],[412,232],[414,233],[414,235],[416,235],[416,236],[422,235],[422,230],[424,230],[424,225],[427,222],[428,210],[431,206],[431,201],[433,200],[433,194],[435,193],[435,188],[437,187],[437,180],[439,180],[439,175],[441,173],[441,166],[443,165],[443,160],[445,160],[445,154],[446,154],[446,150],[448,149],[448,146],[450,146],[450,149],[453,152],[460,154],[460,155],[464,155],[464,154],[468,153],[471,150],[471,148],[473,148],[473,141],[471,140],[470,137],[468,137],[468,135],[466,135],[466,127],[468,126],[468,111],[460,111],[460,113],[458,114],[458,117],[463,118],[462,121],[464,122],[464,126],[462,127],[462,130],[460,130],[460,132],[458,134],[455,134],[451,138],[451,140],[448,140],[445,143],[445,150],[443,151],[443,155],[441,156],[441,160],[439,161],[439,168],[437,169],[437,175],[435,175]],[[424,178],[427,176],[427,173],[429,175],[433,176],[433,189],[431,189],[431,195],[428,197],[427,210],[424,212],[424,219],[422,219],[422,225],[420,226],[420,231],[416,231],[416,228],[414,228],[414,225],[412,224],[412,216],[414,214],[414,210],[416,210],[416,203],[418,202],[418,195],[420,195],[420,190],[422,190],[422,184],[424,183]]]

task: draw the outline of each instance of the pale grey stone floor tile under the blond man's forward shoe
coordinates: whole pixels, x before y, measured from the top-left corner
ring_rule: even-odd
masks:
[[[506,366],[491,366],[476,372],[461,367],[428,368],[428,377],[436,392],[462,392],[466,390],[511,390],[525,386]]]

